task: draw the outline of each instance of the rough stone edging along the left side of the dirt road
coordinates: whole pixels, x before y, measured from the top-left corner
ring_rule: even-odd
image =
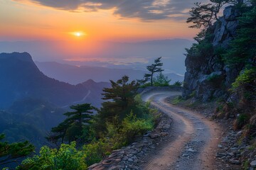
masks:
[[[143,137],[139,137],[136,142],[122,149],[112,151],[109,157],[98,164],[93,164],[89,169],[140,169],[142,158],[159,145],[159,141],[169,136],[171,128],[171,119],[162,113],[159,113],[159,123],[154,130],[147,132]]]

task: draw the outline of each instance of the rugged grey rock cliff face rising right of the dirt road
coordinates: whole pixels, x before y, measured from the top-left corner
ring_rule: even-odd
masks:
[[[183,98],[194,96],[201,101],[210,101],[225,95],[225,91],[238,77],[240,70],[229,69],[216,54],[220,48],[228,47],[238,28],[239,12],[228,6],[223,16],[207,31],[212,35],[209,50],[188,52],[186,56],[186,74],[183,86]]]

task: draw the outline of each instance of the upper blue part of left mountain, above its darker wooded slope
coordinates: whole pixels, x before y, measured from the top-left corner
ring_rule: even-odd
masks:
[[[27,52],[0,54],[0,108],[8,108],[22,98],[38,98],[57,106],[86,102],[89,89],[46,77]],[[101,91],[102,89],[98,89]],[[100,98],[90,101],[99,105]]]

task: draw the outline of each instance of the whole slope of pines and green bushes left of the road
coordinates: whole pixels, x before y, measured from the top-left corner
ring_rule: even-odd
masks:
[[[156,111],[142,102],[139,84],[127,76],[110,82],[111,88],[103,90],[102,108],[71,106],[75,111],[65,113],[67,118],[47,137],[55,147],[41,147],[16,169],[86,169],[154,128]]]

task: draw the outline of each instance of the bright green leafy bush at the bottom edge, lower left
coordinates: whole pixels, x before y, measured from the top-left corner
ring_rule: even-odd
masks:
[[[75,142],[71,142],[70,145],[62,144],[60,145],[60,149],[50,149],[44,146],[41,148],[39,155],[25,159],[21,166],[17,167],[17,170],[86,169],[86,154],[83,151],[78,151],[75,146]]]

